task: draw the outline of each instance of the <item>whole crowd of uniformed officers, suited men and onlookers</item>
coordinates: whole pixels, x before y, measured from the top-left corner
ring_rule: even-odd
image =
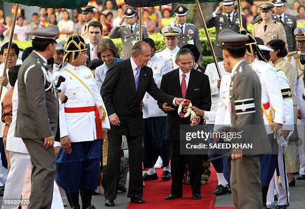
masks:
[[[166,201],[183,197],[182,184],[199,200],[211,162],[213,194],[232,194],[236,209],[286,209],[289,188],[305,180],[305,28],[297,27],[303,1],[292,11],[286,0],[247,1],[242,20],[235,3],[222,0],[206,19],[216,28],[219,61],[206,68],[184,5],[172,9],[175,17],[168,7],[163,18],[154,7],[144,9],[142,41],[137,8],[115,10],[112,0],[101,13],[93,5],[75,9],[71,20],[67,10],[53,8],[40,8],[30,23],[18,16],[14,40],[31,39],[32,47],[19,60],[15,43],[9,55],[8,42],[0,46],[3,200],[63,209],[63,190],[72,209],[95,209],[92,195],[102,186],[106,207],[115,206],[118,191],[144,204],[156,168],[162,181],[171,180]],[[11,19],[0,11],[4,20],[5,40]],[[159,51],[149,37],[157,32],[166,46]],[[113,38],[121,38],[121,54]],[[241,131],[232,143],[258,147],[182,154],[180,125]],[[228,140],[212,135],[208,142]]]

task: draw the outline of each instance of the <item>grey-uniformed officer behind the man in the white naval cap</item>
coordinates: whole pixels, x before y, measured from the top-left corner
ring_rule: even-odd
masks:
[[[186,44],[193,44],[195,45],[199,52],[199,61],[198,64],[201,66],[202,64],[202,54],[201,54],[201,44],[199,40],[199,33],[198,29],[196,28],[195,25],[191,23],[186,22],[186,15],[187,15],[187,8],[183,5],[178,5],[174,9],[174,13],[176,14],[175,20],[170,23],[170,26],[176,26],[178,28],[181,28],[181,33],[180,33],[180,40],[178,43],[178,47],[181,48],[182,46]],[[177,21],[177,24],[176,24]]]

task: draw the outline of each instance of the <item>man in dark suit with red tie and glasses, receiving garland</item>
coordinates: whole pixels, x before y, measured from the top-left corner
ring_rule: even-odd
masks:
[[[178,69],[166,73],[162,77],[160,89],[175,97],[189,99],[192,105],[201,110],[211,109],[211,90],[208,76],[192,69],[193,54],[189,49],[180,49],[176,55]],[[171,194],[165,200],[182,197],[182,179],[184,158],[190,172],[192,196],[194,200],[201,199],[201,168],[203,155],[180,154],[180,125],[190,124],[190,117],[181,118],[177,108],[169,107],[166,103],[158,102],[159,107],[167,113],[166,139],[169,141],[171,161]]]

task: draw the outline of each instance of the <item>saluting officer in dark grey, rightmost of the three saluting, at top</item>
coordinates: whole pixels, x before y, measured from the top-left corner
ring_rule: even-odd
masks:
[[[221,13],[221,9],[223,12]],[[246,17],[242,15],[243,27],[247,29]],[[218,61],[223,61],[221,42],[218,39],[218,34],[223,29],[230,29],[235,32],[239,31],[239,14],[234,11],[234,0],[223,0],[219,6],[207,19],[206,26],[208,28],[216,28],[216,40],[214,43],[215,55]]]

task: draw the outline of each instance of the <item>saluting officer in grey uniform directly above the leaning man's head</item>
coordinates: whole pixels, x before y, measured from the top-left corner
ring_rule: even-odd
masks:
[[[124,9],[124,16],[121,21],[114,25],[109,33],[109,38],[121,38],[123,43],[123,49],[121,59],[126,60],[131,57],[132,47],[140,41],[140,25],[136,23],[138,13],[134,7],[127,6]],[[124,24],[126,21],[126,24]],[[148,38],[147,29],[143,26],[143,39]]]

